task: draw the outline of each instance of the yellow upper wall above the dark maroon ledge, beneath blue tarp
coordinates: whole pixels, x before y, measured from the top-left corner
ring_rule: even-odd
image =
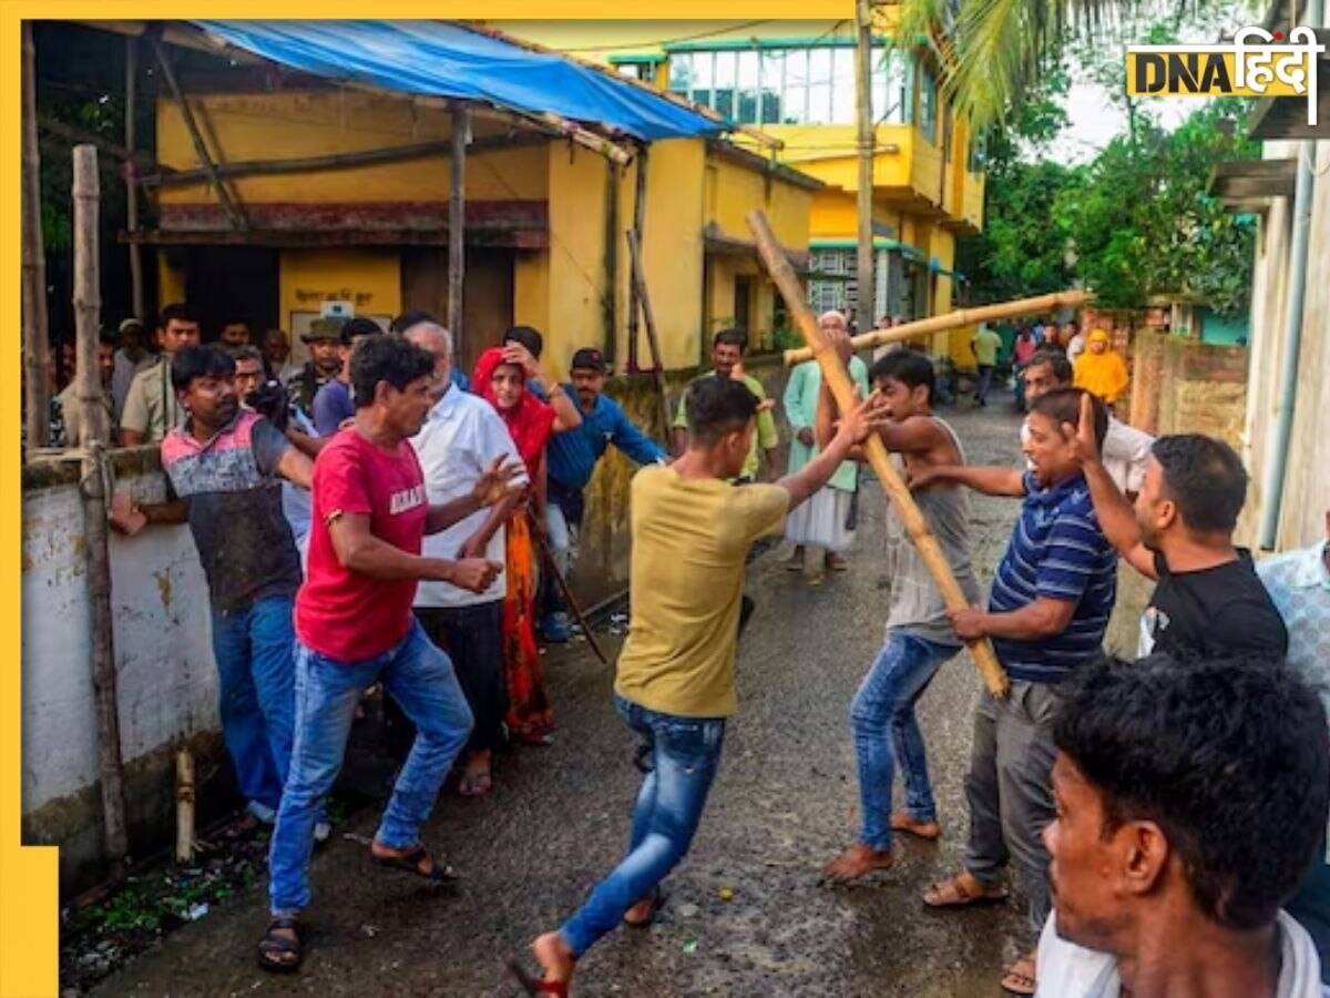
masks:
[[[364,152],[392,145],[446,141],[448,113],[415,108],[402,97],[339,93],[259,93],[190,97],[210,149],[225,161],[281,160]],[[476,120],[472,134],[497,126]],[[157,102],[157,158],[176,169],[200,166],[189,133],[173,101]],[[476,152],[467,157],[467,198],[543,201],[548,193],[547,146]],[[447,201],[451,185],[446,157],[406,162],[241,177],[231,181],[241,202]],[[161,189],[162,204],[213,201],[206,182]]]

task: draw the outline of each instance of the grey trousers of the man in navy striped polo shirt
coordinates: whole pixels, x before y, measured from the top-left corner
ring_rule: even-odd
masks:
[[[982,884],[1001,878],[1015,861],[1020,889],[1029,901],[1029,945],[1048,919],[1048,850],[1044,826],[1053,806],[1053,716],[1057,688],[1012,680],[1011,695],[998,700],[987,691],[975,708],[966,797],[970,842],[966,869]]]

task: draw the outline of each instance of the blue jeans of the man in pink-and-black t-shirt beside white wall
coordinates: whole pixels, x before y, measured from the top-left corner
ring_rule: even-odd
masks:
[[[291,760],[295,669],[291,597],[213,609],[219,713],[235,782],[246,801],[277,810]]]

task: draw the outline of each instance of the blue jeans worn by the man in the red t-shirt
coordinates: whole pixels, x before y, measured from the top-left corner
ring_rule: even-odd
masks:
[[[314,821],[332,789],[355,705],[382,681],[416,727],[415,744],[392,786],[375,838],[406,849],[419,841],[452,761],[471,733],[471,709],[448,656],[412,619],[396,647],[362,661],[343,663],[295,643],[295,744],[282,806],[269,852],[273,914],[294,914],[310,904],[310,850]]]

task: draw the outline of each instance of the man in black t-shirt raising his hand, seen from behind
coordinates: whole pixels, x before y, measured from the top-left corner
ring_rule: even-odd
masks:
[[[1063,428],[1077,438],[1104,534],[1133,568],[1158,580],[1141,617],[1138,653],[1181,660],[1253,652],[1282,660],[1289,632],[1252,555],[1233,547],[1248,483],[1233,448],[1200,434],[1161,436],[1133,510],[1100,462],[1087,414],[1079,430]]]

